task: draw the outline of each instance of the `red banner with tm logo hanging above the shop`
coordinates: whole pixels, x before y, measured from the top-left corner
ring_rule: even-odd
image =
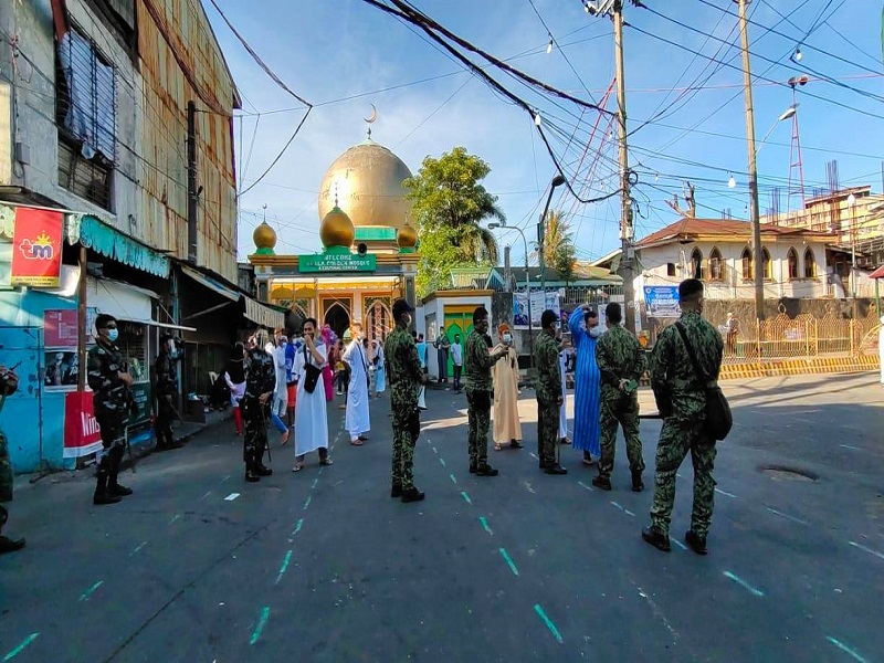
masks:
[[[62,267],[61,212],[15,209],[12,239],[12,285],[59,287]]]

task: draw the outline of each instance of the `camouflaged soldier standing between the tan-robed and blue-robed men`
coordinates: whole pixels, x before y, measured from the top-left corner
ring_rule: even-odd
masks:
[[[537,456],[540,470],[547,474],[568,474],[556,461],[556,443],[559,440],[559,409],[561,372],[559,369],[559,343],[556,325],[559,316],[547,309],[540,316],[540,335],[534,343],[534,365],[537,367]]]

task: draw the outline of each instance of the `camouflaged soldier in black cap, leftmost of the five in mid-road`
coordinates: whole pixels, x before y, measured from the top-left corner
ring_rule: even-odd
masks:
[[[390,497],[402,502],[420,502],[424,494],[414,487],[412,473],[414,445],[421,430],[418,410],[418,389],[427,383],[427,373],[421,368],[418,347],[409,334],[411,313],[414,308],[406,299],[393,304],[396,327],[383,344],[387,375],[390,379],[390,410],[393,424],[393,454]]]

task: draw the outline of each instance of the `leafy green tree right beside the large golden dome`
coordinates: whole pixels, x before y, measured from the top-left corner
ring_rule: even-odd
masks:
[[[455,147],[438,159],[427,157],[403,182],[421,240],[419,295],[448,286],[451,267],[497,264],[497,242],[482,222],[505,217],[497,197],[480,183],[488,172],[485,161]]]

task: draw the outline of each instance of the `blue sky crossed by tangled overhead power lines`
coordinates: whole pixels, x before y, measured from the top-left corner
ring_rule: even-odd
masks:
[[[492,168],[485,186],[499,196],[509,224],[526,229],[529,240],[535,236],[539,206],[555,169],[530,117],[502,101],[417,29],[360,0],[217,1],[278,76],[316,105],[280,162],[241,199],[241,260],[253,251],[252,230],[261,221],[264,204],[280,235],[277,253],[319,248],[319,181],[338,155],[364,139],[361,118],[370,114],[370,104],[379,113],[372,137],[397,152],[413,172],[425,156],[439,156],[459,145],[485,159]],[[724,209],[734,218],[748,215],[739,32],[737,19],[726,13],[736,12],[736,4],[706,2],[645,0],[653,11],[627,7],[631,25],[624,32],[625,83],[629,129],[634,131],[630,162],[639,176],[636,238],[676,220],[664,201],[681,193],[684,179],[696,186],[698,215],[719,218]],[[288,140],[304,110],[286,110],[299,104],[254,64],[217,11],[206,4],[245,99],[234,134],[240,186],[246,188]],[[611,21],[589,17],[579,0],[534,0],[537,12],[529,0],[414,0],[414,4],[477,46],[513,59],[514,66],[575,96],[591,95],[598,101],[612,81]],[[792,93],[778,83],[801,73],[810,76],[798,93],[807,193],[828,186],[825,165],[833,159],[842,186],[871,185],[873,191],[882,190],[881,10],[881,2],[873,0],[751,3],[759,143],[770,130],[758,155],[762,212],[771,206],[775,187],[780,189],[780,209],[787,207],[791,120],[778,123],[777,118],[792,103]],[[547,54],[549,34],[560,48]],[[799,45],[802,59],[794,63],[789,56]],[[600,120],[587,150],[597,112],[581,115],[582,109],[571,103],[554,103],[488,71],[539,109],[543,126],[554,138],[556,129],[564,136],[554,139],[552,146],[576,189],[585,197],[617,189],[615,144],[601,144],[607,118]],[[688,86],[701,90],[684,90]],[[613,97],[608,108],[615,109]],[[662,116],[641,126],[661,112]],[[568,144],[576,128],[576,138]],[[734,189],[727,186],[732,172],[737,181]],[[797,200],[792,198],[791,204]],[[570,193],[557,192],[554,208],[569,215],[581,260],[619,245],[617,198],[580,204]],[[502,244],[513,243],[514,264],[524,260],[516,233],[499,239]]]

